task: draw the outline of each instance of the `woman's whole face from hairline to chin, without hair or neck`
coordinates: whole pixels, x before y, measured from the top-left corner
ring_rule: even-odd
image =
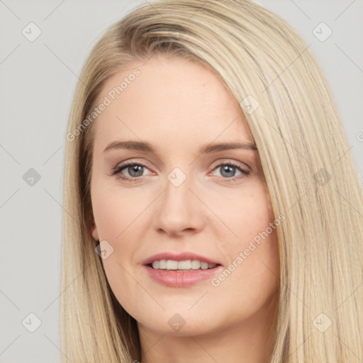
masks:
[[[109,79],[100,100],[92,235],[123,308],[165,334],[262,322],[278,289],[280,220],[257,151],[216,146],[253,144],[238,102],[208,69],[162,55]]]

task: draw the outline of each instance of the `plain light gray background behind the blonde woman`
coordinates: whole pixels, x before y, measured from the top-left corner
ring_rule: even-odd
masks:
[[[145,2],[0,0],[0,363],[60,362],[62,173],[77,74],[104,30]],[[256,2],[311,44],[362,175],[363,0]],[[30,22],[42,32],[33,42],[22,33]],[[333,30],[324,42],[313,34],[321,22]]]

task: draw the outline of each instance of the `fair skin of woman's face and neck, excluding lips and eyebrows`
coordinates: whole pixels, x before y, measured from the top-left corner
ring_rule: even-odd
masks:
[[[275,229],[217,287],[210,279],[163,286],[142,264],[159,252],[191,251],[228,267],[275,220],[257,152],[198,152],[210,143],[253,143],[245,116],[210,70],[165,55],[123,69],[105,84],[101,99],[135,67],[140,76],[94,124],[91,201],[92,235],[113,247],[102,261],[106,277],[138,321],[141,362],[267,362],[277,309]],[[147,141],[156,152],[104,152],[117,140]],[[124,161],[145,165],[141,177],[128,167],[120,172],[138,182],[112,175]],[[222,162],[250,174],[237,168],[225,174]],[[167,179],[175,167],[186,175],[178,187]],[[168,324],[176,313],[185,321],[179,331]]]

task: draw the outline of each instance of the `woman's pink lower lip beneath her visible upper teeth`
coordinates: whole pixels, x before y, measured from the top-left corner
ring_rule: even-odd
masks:
[[[213,269],[191,269],[177,272],[167,269],[153,269],[145,265],[144,267],[154,281],[169,287],[186,287],[197,284],[198,282],[211,279],[223,268],[222,266],[217,266]]]

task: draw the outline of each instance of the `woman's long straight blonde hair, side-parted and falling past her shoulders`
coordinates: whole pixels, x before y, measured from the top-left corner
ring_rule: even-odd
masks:
[[[274,213],[286,216],[277,227],[279,310],[269,362],[362,359],[362,184],[315,57],[286,21],[252,1],[160,0],[108,28],[74,94],[63,203],[64,362],[141,360],[136,321],[113,296],[91,237],[88,117],[110,77],[157,53],[199,62],[225,82],[245,111]]]

